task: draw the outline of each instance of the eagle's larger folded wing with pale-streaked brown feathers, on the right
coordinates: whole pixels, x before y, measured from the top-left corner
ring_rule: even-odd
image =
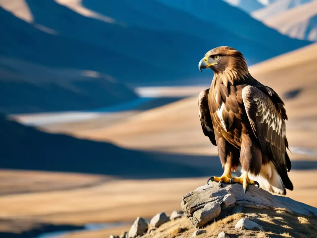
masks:
[[[274,102],[275,98],[272,98],[274,95],[277,94],[273,89],[265,86],[257,88],[248,85],[242,90],[247,116],[255,136],[261,144],[261,149],[275,165],[285,187],[292,190],[293,185],[287,175],[290,160],[286,155],[286,112],[283,107],[284,103],[278,95],[275,97],[278,103]],[[279,107],[282,107],[284,111]]]

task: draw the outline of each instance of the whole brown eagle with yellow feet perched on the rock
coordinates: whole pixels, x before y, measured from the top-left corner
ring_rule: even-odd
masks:
[[[224,173],[210,179],[222,183],[255,184],[285,195],[293,190],[286,148],[284,102],[277,93],[258,82],[248,70],[241,52],[221,46],[208,51],[199,69],[211,68],[209,89],[199,95],[199,117],[205,136],[217,145]],[[231,177],[241,165],[243,174]],[[250,178],[256,180],[251,180]],[[209,182],[209,181],[208,181]]]

